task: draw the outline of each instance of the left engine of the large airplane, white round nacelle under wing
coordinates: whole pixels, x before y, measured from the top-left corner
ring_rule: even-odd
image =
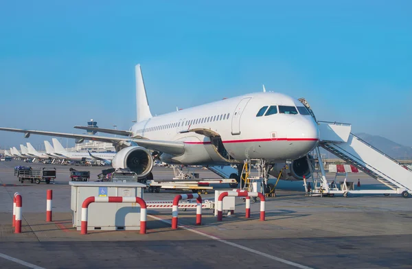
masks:
[[[128,168],[135,172],[138,178],[146,178],[152,171],[153,157],[146,148],[131,146],[117,152],[112,160],[112,167]]]

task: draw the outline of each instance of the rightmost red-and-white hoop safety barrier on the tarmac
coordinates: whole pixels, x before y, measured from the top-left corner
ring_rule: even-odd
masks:
[[[260,220],[265,220],[265,198],[264,195],[261,194],[260,192],[249,192],[249,191],[243,191],[243,190],[236,190],[236,191],[225,191],[220,194],[218,198],[218,221],[222,221],[223,218],[223,198],[226,196],[239,196],[239,197],[246,197],[246,215],[245,218],[250,218],[250,207],[251,207],[251,202],[250,198],[251,197],[259,197],[260,198]],[[249,199],[248,199],[249,198]],[[248,202],[249,200],[249,202]],[[249,207],[249,208],[248,208]]]

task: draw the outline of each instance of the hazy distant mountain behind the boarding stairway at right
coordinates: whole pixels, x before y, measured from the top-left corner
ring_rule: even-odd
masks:
[[[373,145],[378,150],[385,152],[394,159],[403,160],[405,158],[405,152],[407,159],[412,158],[412,148],[405,145],[400,145],[393,142],[385,137],[380,137],[378,135],[366,134],[365,132],[360,132],[355,134],[357,137],[365,140],[367,143]]]

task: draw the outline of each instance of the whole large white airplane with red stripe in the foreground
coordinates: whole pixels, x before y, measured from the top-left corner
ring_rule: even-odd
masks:
[[[112,160],[115,169],[128,168],[139,178],[152,178],[153,156],[169,164],[236,165],[240,174],[244,160],[265,162],[266,171],[282,179],[302,180],[310,175],[308,154],[319,143],[319,128],[312,111],[299,100],[282,93],[264,91],[179,109],[152,116],[140,65],[135,66],[137,121],[129,130],[75,126],[116,137],[95,134],[70,134],[16,128],[24,136],[42,134],[113,143],[117,150]]]

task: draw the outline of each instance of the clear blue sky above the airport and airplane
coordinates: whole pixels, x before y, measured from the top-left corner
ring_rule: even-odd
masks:
[[[412,145],[411,1],[220,2],[2,1],[0,126],[128,129],[140,63],[154,114],[265,84]],[[44,139],[0,132],[0,147]]]

